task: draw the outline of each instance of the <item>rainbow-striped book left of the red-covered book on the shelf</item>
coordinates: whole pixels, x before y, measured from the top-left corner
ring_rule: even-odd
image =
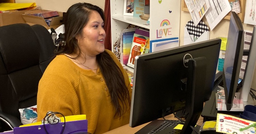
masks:
[[[135,31],[123,33],[123,64],[125,65],[127,65],[130,56],[131,44],[134,33]]]

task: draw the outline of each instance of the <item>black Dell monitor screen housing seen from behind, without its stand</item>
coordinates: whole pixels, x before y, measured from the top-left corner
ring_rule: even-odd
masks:
[[[205,83],[199,84],[201,99],[209,100],[220,47],[221,39],[213,39],[136,56],[129,125],[136,127],[185,109],[189,59],[206,58]]]

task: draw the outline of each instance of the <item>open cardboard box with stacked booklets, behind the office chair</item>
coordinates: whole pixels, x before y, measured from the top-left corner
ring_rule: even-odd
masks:
[[[35,25],[39,24],[44,26],[46,29],[51,29],[51,28],[58,28],[60,25],[62,25],[62,19],[63,19],[63,12],[58,12],[59,16],[57,17],[52,17],[52,21],[50,26],[47,25],[43,17],[38,17],[38,16],[32,16],[32,15],[26,15],[26,14],[32,14],[32,13],[39,13],[42,11],[47,11],[47,10],[34,10],[34,11],[26,11],[22,17],[25,20],[25,22],[29,25]]]

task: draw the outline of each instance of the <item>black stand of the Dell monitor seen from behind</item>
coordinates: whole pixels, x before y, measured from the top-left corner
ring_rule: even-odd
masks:
[[[206,58],[198,57],[190,59],[188,62],[188,77],[186,86],[186,111],[188,116],[182,130],[174,129],[176,125],[166,128],[156,134],[194,134],[190,126],[196,126],[196,123],[202,113],[204,96],[208,92],[204,90],[205,73],[206,73]],[[211,94],[211,93],[209,93]],[[199,132],[200,126],[194,128]]]

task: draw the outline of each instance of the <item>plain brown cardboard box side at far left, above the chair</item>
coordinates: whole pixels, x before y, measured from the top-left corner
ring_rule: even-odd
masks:
[[[16,23],[26,23],[21,15],[24,13],[25,11],[13,11],[13,12],[0,13],[0,26],[6,26],[6,25],[11,25]]]

